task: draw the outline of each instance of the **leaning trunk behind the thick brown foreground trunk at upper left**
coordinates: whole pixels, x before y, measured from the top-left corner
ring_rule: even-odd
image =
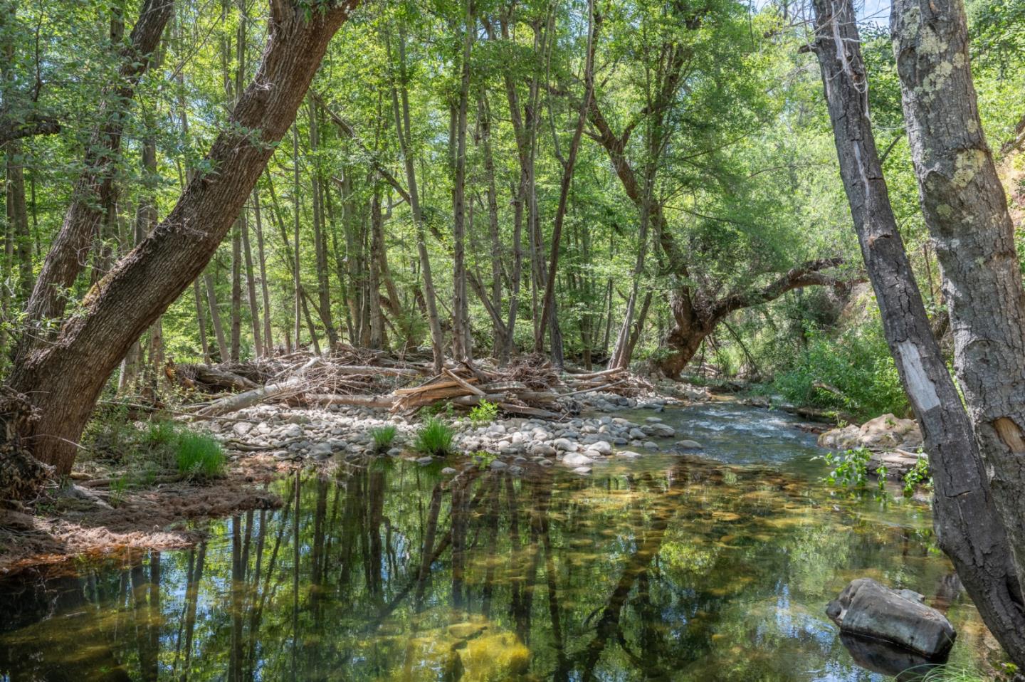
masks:
[[[73,190],[72,204],[65,214],[27,306],[30,323],[64,315],[63,292],[71,287],[82,271],[93,234],[105,215],[114,186],[114,163],[121,147],[125,108],[135,91],[135,84],[150,66],[150,55],[157,49],[164,27],[174,10],[172,0],[146,0],[132,29],[129,44],[122,52],[118,84],[106,92],[100,105],[104,121],[93,131],[86,147],[85,170]],[[39,334],[25,334],[20,354],[39,345]]]

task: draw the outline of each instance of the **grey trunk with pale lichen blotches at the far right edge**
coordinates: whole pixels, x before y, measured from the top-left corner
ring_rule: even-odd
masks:
[[[1025,292],[1015,226],[979,119],[965,8],[961,0],[897,0],[891,25],[921,208],[942,268],[954,368],[1023,580]]]

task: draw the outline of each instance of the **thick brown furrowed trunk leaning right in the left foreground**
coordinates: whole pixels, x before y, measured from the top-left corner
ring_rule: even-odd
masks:
[[[306,18],[297,5],[272,3],[263,62],[207,154],[214,171],[189,183],[168,216],[93,287],[53,344],[15,363],[9,385],[32,396],[39,413],[19,436],[37,458],[58,473],[71,471],[75,441],[111,370],[228,234],[295,119],[331,36],[358,4],[346,0]]]

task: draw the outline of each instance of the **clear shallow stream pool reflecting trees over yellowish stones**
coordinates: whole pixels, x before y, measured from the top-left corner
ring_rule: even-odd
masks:
[[[984,667],[926,506],[832,495],[786,415],[659,416],[704,456],[454,482],[369,462],[189,551],[7,579],[0,680],[879,680],[824,614],[862,575],[925,594],[951,663]]]

